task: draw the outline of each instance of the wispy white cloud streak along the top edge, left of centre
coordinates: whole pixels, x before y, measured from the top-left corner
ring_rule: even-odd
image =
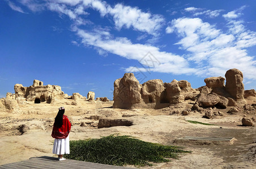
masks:
[[[50,11],[65,14],[70,19],[76,20],[76,25],[84,25],[86,23],[81,15],[89,15],[85,11],[87,8],[99,11],[102,17],[106,15],[112,16],[118,30],[133,28],[156,36],[159,35],[159,30],[164,24],[164,17],[161,15],[152,15],[149,12],[143,12],[138,7],[125,6],[121,3],[117,3],[114,7],[110,6],[106,1],[100,0],[21,0],[20,3],[33,12],[48,8]],[[20,7],[14,6],[11,2],[10,4],[13,9],[23,12]]]

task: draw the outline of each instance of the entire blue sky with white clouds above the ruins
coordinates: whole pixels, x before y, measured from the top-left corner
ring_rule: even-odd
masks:
[[[140,83],[244,73],[256,88],[255,1],[0,1],[0,97],[33,79],[72,95],[113,97],[126,72]]]

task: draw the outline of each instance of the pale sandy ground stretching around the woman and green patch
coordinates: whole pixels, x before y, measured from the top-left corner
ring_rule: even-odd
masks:
[[[152,167],[141,168],[256,168],[256,127],[241,126],[244,114],[214,119],[202,118],[203,114],[170,115],[170,109],[113,109],[113,102],[81,102],[78,105],[21,104],[18,112],[0,112],[0,164],[18,162],[31,157],[52,154],[53,138],[50,136],[59,106],[65,106],[65,114],[72,118],[70,140],[100,138],[111,134],[130,135],[144,141],[165,145],[183,146],[191,154],[180,155],[168,163],[153,163]],[[1,110],[0,110],[1,111]],[[125,114],[131,117],[122,117]],[[99,120],[91,115],[113,119],[128,119],[133,126],[97,128]],[[187,120],[216,124],[206,126]],[[86,126],[80,126],[81,122]],[[27,131],[21,135],[17,128],[25,124]],[[184,136],[235,137],[233,145],[173,143]]]

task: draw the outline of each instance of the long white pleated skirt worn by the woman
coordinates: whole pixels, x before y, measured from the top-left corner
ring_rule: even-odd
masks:
[[[69,154],[69,136],[65,139],[55,139],[53,143],[53,154]]]

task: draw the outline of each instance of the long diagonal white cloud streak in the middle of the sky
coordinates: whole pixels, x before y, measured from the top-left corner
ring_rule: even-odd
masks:
[[[99,47],[127,59],[138,60],[143,66],[150,68],[152,71],[174,74],[195,72],[195,69],[189,68],[189,63],[184,57],[168,52],[160,52],[157,47],[139,43],[133,44],[127,38],[106,39],[103,33],[85,32],[82,29],[78,29],[77,32],[85,45]],[[152,56],[145,58],[148,52],[151,52]]]

